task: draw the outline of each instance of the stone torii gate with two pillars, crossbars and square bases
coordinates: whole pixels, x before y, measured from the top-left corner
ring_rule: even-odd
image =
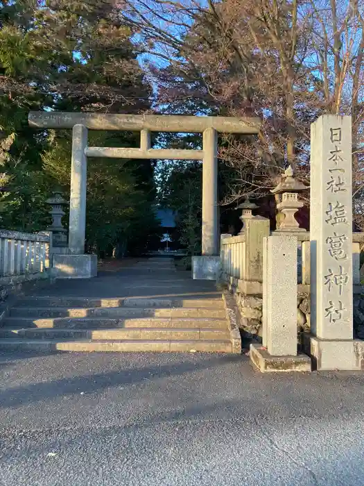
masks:
[[[193,261],[193,278],[214,279],[218,246],[218,132],[254,134],[260,120],[239,117],[113,115],[93,112],[30,112],[34,128],[72,128],[69,255],[55,255],[64,278],[96,276],[96,255],[85,255],[87,157],[202,160],[202,256]],[[140,148],[88,146],[88,130],[140,131]],[[202,150],[152,149],[150,132],[202,133]]]

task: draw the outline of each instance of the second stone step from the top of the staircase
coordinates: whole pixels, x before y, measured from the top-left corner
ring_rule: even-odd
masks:
[[[205,317],[225,319],[224,309],[214,308],[29,308],[15,307],[10,310],[10,317]]]

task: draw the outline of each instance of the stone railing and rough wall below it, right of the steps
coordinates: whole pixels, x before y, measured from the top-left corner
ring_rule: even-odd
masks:
[[[245,221],[245,231],[239,236],[221,235],[220,281],[234,294],[241,314],[241,330],[245,336],[261,335],[263,292],[263,237],[269,231],[269,221],[253,217]],[[282,234],[282,233],[280,233]],[[310,233],[287,232],[297,236],[297,326],[309,332],[310,314]],[[353,294],[356,335],[364,337],[364,298],[360,285],[360,253],[364,233],[353,233]]]

